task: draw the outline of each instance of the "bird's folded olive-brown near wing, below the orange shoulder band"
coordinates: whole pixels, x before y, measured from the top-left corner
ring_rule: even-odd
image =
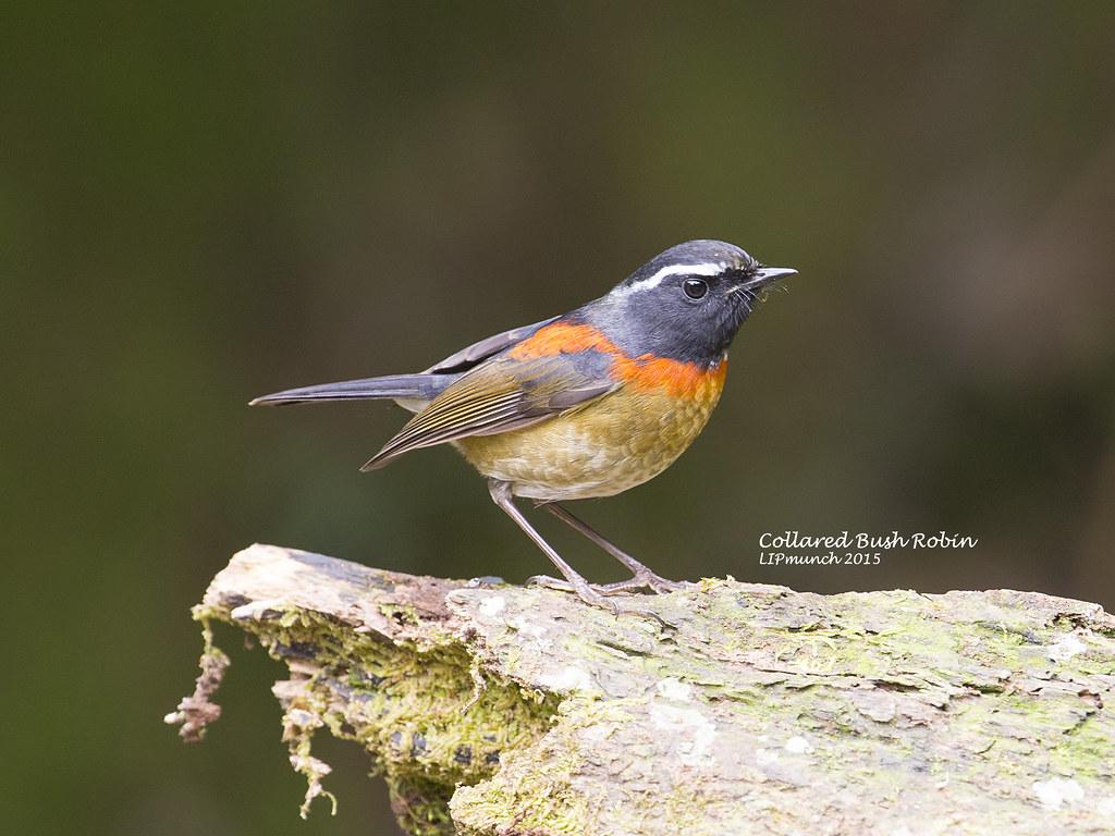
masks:
[[[450,383],[360,469],[382,467],[419,447],[507,432],[584,406],[617,388],[608,373],[612,360],[594,349],[492,358]]]

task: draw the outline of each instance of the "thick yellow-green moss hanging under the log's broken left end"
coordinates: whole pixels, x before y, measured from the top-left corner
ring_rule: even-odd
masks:
[[[381,609],[399,623],[417,619],[413,609]],[[399,823],[416,836],[453,833],[447,803],[456,786],[489,778],[506,752],[545,733],[556,710],[556,698],[479,670],[450,638],[419,649],[297,609],[233,621],[209,607],[195,618],[203,625],[234,623],[291,665],[294,684],[277,693],[292,764],[309,780],[307,805],[317,795],[330,797],[320,786],[328,767],[310,754],[314,730],[324,726],[372,754]]]

